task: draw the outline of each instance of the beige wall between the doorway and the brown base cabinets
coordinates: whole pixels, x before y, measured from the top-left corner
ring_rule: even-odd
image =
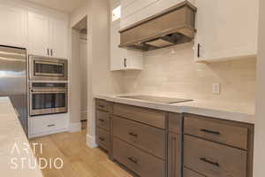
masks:
[[[122,73],[110,72],[108,0],[87,0],[72,13],[71,27],[87,15],[87,144],[95,147],[96,94],[122,92]]]

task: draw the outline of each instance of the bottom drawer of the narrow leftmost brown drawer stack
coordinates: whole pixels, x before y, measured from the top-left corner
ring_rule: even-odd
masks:
[[[100,127],[97,127],[96,140],[103,150],[110,150],[110,133]]]

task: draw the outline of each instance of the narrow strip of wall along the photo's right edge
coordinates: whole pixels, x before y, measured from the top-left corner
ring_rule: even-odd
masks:
[[[257,63],[256,114],[254,138],[254,177],[264,176],[265,165],[265,1],[260,0],[260,22]]]

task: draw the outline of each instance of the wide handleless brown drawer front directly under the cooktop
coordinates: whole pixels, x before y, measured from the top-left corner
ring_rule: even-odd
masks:
[[[113,104],[113,114],[139,121],[153,127],[165,128],[165,112],[126,104]]]

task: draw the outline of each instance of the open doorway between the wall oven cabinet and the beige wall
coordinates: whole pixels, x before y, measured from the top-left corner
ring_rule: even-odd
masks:
[[[87,17],[72,27],[72,117],[87,127]],[[76,118],[79,117],[79,118]]]

